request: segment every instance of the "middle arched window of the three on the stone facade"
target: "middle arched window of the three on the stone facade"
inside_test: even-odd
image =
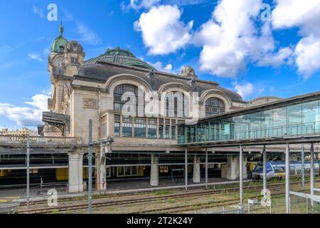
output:
[[[186,117],[188,115],[188,98],[181,92],[169,92],[166,95],[166,116]]]

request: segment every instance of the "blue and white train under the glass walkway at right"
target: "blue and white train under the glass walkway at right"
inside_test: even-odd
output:
[[[320,175],[320,161],[314,162],[314,175]],[[304,173],[310,174],[310,162],[304,162]],[[285,162],[267,162],[267,180],[282,179],[285,177]],[[290,175],[302,174],[302,162],[290,162]],[[263,164],[259,163],[252,171],[252,177],[256,180],[263,179]]]

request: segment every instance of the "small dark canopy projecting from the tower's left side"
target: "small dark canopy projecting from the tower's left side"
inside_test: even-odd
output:
[[[67,129],[70,131],[70,115],[53,112],[43,112],[42,121],[44,123],[48,123],[48,125],[53,125],[59,128],[62,133],[65,132],[65,127],[67,127]]]

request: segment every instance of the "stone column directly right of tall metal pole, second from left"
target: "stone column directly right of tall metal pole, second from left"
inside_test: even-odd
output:
[[[107,190],[107,177],[106,177],[106,165],[105,156],[103,155],[103,146],[100,147],[100,153],[96,155],[96,187],[97,190]]]

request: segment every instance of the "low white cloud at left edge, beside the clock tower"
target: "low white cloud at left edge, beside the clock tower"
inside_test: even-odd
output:
[[[36,126],[41,124],[42,112],[47,110],[48,95],[34,95],[29,107],[19,107],[9,103],[0,103],[0,116],[13,120],[19,126]]]

